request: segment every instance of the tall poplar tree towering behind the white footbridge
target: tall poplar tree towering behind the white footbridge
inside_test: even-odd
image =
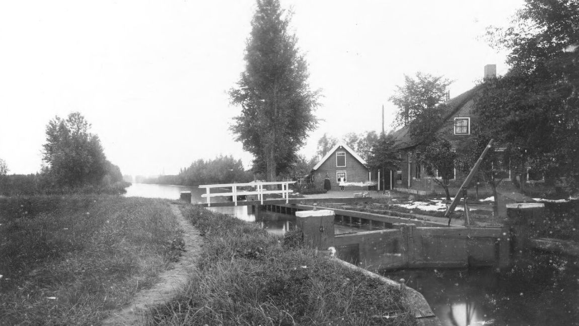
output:
[[[245,71],[229,92],[232,104],[241,106],[230,130],[254,155],[254,171],[269,181],[290,169],[307,132],[317,126],[320,93],[310,90],[306,60],[288,32],[290,17],[278,0],[257,0]]]

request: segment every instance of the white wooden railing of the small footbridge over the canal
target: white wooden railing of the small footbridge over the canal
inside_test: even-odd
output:
[[[237,196],[257,195],[258,200],[263,204],[263,195],[266,193],[279,193],[285,199],[285,203],[289,202],[290,193],[294,192],[290,189],[290,184],[295,184],[296,181],[278,181],[278,182],[248,182],[247,184],[221,184],[221,185],[200,185],[199,188],[206,188],[206,193],[201,197],[207,198],[207,207],[211,207],[211,197],[232,196],[233,203],[237,206]],[[263,186],[267,185],[281,185],[281,190],[264,190]],[[254,191],[247,191],[245,189],[237,189],[238,187],[252,186]],[[231,188],[231,192],[217,192],[211,193],[211,188]]]

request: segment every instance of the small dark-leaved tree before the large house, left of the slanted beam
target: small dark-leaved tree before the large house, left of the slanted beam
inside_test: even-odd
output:
[[[440,185],[446,193],[446,199],[450,200],[448,187],[450,179],[455,177],[455,163],[457,154],[452,149],[448,140],[436,140],[426,146],[420,154],[420,160],[435,175],[433,180]]]

